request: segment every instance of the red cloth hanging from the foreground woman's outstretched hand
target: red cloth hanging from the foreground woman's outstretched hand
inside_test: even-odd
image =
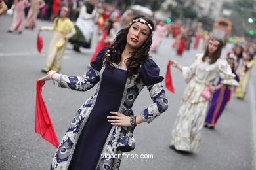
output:
[[[40,135],[42,135],[43,139],[58,148],[58,145],[60,143],[54,131],[54,127],[48,114],[45,101],[43,101],[42,87],[44,84],[45,81],[37,81],[37,93],[35,103],[35,133],[39,133]]]

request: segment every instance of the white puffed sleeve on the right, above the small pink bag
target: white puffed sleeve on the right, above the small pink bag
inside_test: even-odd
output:
[[[225,59],[218,59],[218,73],[221,78],[221,84],[227,84],[230,86],[238,86],[234,73],[232,73],[230,65]]]

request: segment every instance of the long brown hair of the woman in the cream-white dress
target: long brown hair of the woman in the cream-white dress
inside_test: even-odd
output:
[[[215,38],[214,38],[215,39]],[[218,41],[220,44],[217,48],[217,50],[214,52],[214,54],[212,54],[211,56],[209,55],[209,49],[208,46],[203,54],[203,58],[202,61],[205,61],[205,58],[210,57],[211,61],[209,61],[210,64],[215,63],[219,58],[221,58],[221,50],[223,48],[223,41],[221,39],[215,39],[216,41]],[[211,41],[211,39],[209,40]]]

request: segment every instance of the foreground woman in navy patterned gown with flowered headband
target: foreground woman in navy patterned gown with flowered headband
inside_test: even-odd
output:
[[[119,169],[121,154],[135,148],[135,126],[150,123],[167,110],[168,101],[161,84],[163,77],[148,54],[153,33],[153,22],[136,16],[129,27],[117,33],[110,48],[99,52],[84,76],[49,71],[39,79],[54,80],[62,88],[79,91],[98,84],[96,93],[75,114],[54,155],[51,169]],[[144,86],[153,102],[133,116],[131,108]]]

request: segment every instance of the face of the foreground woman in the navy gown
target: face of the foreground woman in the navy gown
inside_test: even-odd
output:
[[[131,25],[126,37],[127,45],[132,48],[140,48],[150,35],[150,29],[147,25],[135,22]]]

